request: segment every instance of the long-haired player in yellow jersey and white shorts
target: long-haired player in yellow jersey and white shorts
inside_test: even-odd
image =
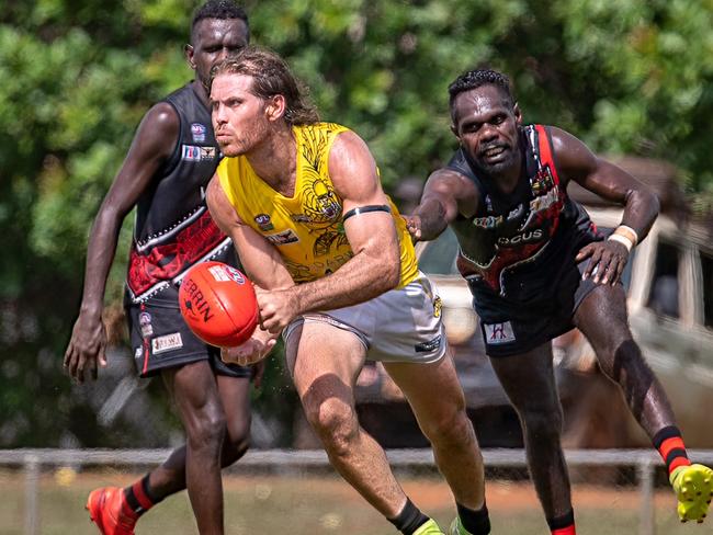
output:
[[[487,534],[482,456],[435,289],[418,272],[366,144],[319,123],[297,88],[285,62],[262,49],[213,70],[213,125],[226,158],[207,203],[258,286],[264,328],[226,358],[260,358],[282,333],[305,413],[335,468],[401,533],[441,534],[356,420],[354,382],[366,358],[382,361],[453,491],[457,533]]]

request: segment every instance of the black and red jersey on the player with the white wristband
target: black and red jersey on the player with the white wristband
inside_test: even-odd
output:
[[[459,216],[452,228],[461,248],[459,270],[476,297],[532,303],[554,284],[548,273],[564,257],[601,237],[561,183],[548,128],[525,126],[519,141],[522,173],[510,194],[478,173],[463,149],[453,156],[448,167],[473,181],[482,202],[474,217]]]

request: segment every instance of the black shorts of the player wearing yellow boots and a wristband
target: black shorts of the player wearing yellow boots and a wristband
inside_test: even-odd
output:
[[[480,332],[488,356],[522,354],[574,329],[573,317],[585,297],[598,285],[581,280],[589,260],[568,266],[550,280],[546,299],[528,305],[501,300],[475,309],[480,318]]]

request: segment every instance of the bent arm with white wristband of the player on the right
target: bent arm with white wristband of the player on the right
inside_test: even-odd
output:
[[[571,134],[551,128],[557,169],[566,180],[574,180],[592,193],[622,204],[624,214],[621,225],[603,242],[582,248],[577,262],[590,259],[585,278],[592,276],[596,283],[616,283],[633,247],[643,240],[658,216],[659,202],[644,184],[618,166],[597,157]],[[566,187],[566,182],[563,183]]]

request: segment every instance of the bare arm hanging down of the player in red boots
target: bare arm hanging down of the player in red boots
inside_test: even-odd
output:
[[[84,288],[64,365],[70,377],[83,383],[97,378],[98,364],[106,365],[106,332],[102,309],[106,278],[116,253],[118,231],[151,178],[170,157],[178,141],[179,117],[168,103],[144,116],[132,146],[92,225],[87,249]]]

